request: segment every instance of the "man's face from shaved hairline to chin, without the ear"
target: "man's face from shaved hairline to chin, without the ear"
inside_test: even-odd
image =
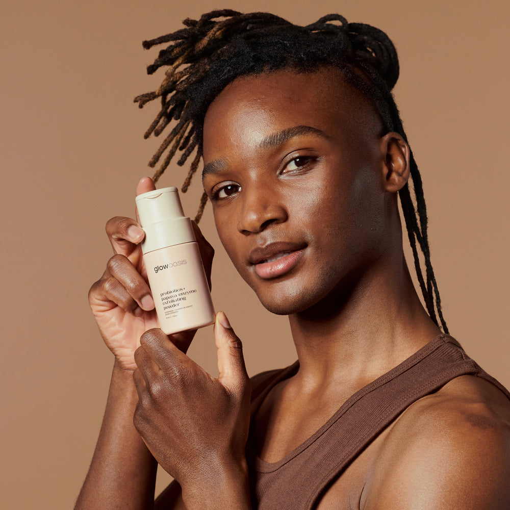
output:
[[[338,299],[386,251],[382,123],[340,71],[242,77],[207,111],[203,185],[219,237],[264,306]]]

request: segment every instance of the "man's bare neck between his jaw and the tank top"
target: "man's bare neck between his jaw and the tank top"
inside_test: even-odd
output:
[[[374,380],[441,333],[423,309],[403,256],[381,261],[348,293],[289,320],[297,379],[310,390]]]

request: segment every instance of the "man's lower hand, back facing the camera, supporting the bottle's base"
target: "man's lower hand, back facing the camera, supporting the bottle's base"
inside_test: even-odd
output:
[[[135,353],[139,403],[134,424],[183,497],[220,483],[246,491],[245,446],[250,383],[241,341],[223,312],[214,325],[218,378],[175,347],[160,329],[147,331]],[[232,500],[231,500],[232,501]]]

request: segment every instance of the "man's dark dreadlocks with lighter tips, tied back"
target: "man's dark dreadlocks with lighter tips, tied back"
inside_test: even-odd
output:
[[[348,23],[339,14],[328,14],[300,27],[273,14],[243,14],[230,9],[208,12],[198,20],[187,18],[183,24],[185,28],[181,30],[143,41],[145,49],[169,43],[147,67],[148,74],[167,67],[160,87],[134,99],[140,108],[154,99],[161,100],[161,109],[144,137],[159,136],[172,120],[176,121],[149,161],[149,166],[155,167],[166,152],[152,178],[155,182],[177,150],[181,152],[177,161],[180,166],[195,151],[182,186],[186,192],[202,156],[203,119],[214,98],[240,76],[278,69],[292,68],[298,72],[314,72],[323,66],[340,69],[350,84],[373,101],[387,132],[397,132],[407,142],[391,92],[399,75],[397,52],[381,30],[364,23]],[[410,179],[399,196],[427,312],[448,333],[430,262],[422,180],[412,151]],[[200,219],[206,202],[204,193],[195,221]],[[424,272],[418,246],[423,254]]]

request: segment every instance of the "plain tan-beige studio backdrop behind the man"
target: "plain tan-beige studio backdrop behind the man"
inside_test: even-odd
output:
[[[508,3],[302,4],[223,6],[303,24],[340,12],[388,32],[400,56],[395,93],[424,179],[445,317],[479,364],[510,386]],[[136,182],[156,147],[142,139],[155,109],[132,103],[161,80],[145,75],[156,52],[144,52],[141,41],[214,7],[204,0],[2,3],[2,507],[69,508],[78,494],[112,366],[87,291],[110,256],[104,224],[133,213]],[[182,171],[173,175],[161,185],[180,185]],[[199,191],[197,181],[189,214]],[[202,227],[217,248],[215,304],[244,340],[250,374],[290,363],[286,319],[262,310],[240,282],[209,207]],[[207,328],[191,350],[212,371],[213,345]]]

